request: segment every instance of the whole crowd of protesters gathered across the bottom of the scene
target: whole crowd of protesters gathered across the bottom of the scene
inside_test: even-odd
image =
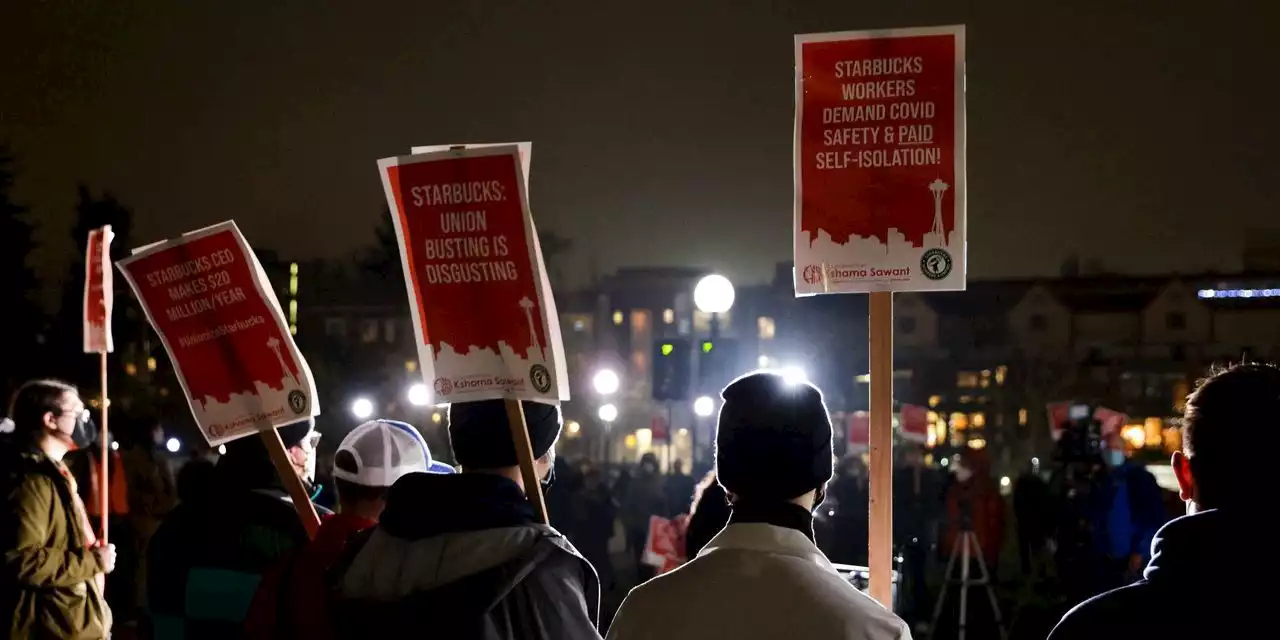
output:
[[[33,380],[14,394],[0,434],[0,609],[20,639],[905,640],[933,622],[940,594],[959,588],[929,567],[972,538],[973,562],[992,581],[1016,567],[1041,586],[1052,576],[1052,589],[1079,603],[1053,640],[1265,628],[1265,590],[1233,589],[1274,564],[1243,554],[1245,567],[1240,553],[1261,530],[1265,471],[1234,449],[1238,433],[1280,410],[1275,366],[1216,371],[1187,399],[1172,460],[1187,515],[1167,524],[1151,474],[1115,442],[1092,457],[1065,452],[1051,474],[1028,468],[1011,508],[984,451],[964,451],[942,472],[902,448],[897,614],[837,570],[865,563],[868,474],[856,456],[833,454],[822,393],[759,371],[722,398],[714,468],[694,474],[676,462],[663,474],[652,454],[635,468],[558,460],[558,407],[524,402],[536,476],[543,489],[554,481],[550,525],[526,499],[503,401],[449,407],[457,466],[434,457],[412,425],[372,420],[323,470],[337,502],[316,504],[312,538],[261,439],[233,440],[216,461],[197,456],[175,477],[164,431],[148,421],[123,451],[111,448],[102,483],[77,389]],[[278,431],[293,472],[325,502],[314,422]],[[100,541],[104,503],[110,544]],[[650,517],[682,515],[687,561],[655,575]],[[1006,543],[1016,564],[1001,562]],[[1176,603],[1185,609],[1169,611]],[[954,607],[942,617],[954,620]],[[997,637],[1001,623],[970,616],[969,634]]]

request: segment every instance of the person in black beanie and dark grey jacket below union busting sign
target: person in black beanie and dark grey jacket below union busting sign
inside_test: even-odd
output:
[[[559,407],[522,407],[545,481]],[[402,477],[333,568],[339,637],[599,639],[599,580],[526,499],[504,401],[452,404],[449,439],[462,474]]]

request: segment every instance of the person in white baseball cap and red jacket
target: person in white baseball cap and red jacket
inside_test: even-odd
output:
[[[338,445],[333,467],[338,512],[321,522],[316,539],[276,576],[264,577],[246,622],[250,637],[334,637],[325,607],[325,572],[353,536],[378,524],[387,492],[397,480],[454,472],[431,460],[417,429],[396,420],[371,420],[353,429]]]

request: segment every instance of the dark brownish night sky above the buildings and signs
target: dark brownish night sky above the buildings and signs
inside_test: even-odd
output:
[[[46,270],[78,180],[134,209],[136,243],[234,218],[257,246],[337,256],[372,241],[376,159],[531,140],[571,282],[762,282],[791,251],[791,36],[947,23],[969,29],[970,275],[1071,252],[1236,269],[1247,230],[1280,230],[1265,0],[123,4],[0,4],[0,141]]]

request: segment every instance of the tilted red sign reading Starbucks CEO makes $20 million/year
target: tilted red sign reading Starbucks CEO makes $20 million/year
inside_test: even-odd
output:
[[[116,265],[210,445],[319,413],[311,370],[236,223],[136,250]]]

